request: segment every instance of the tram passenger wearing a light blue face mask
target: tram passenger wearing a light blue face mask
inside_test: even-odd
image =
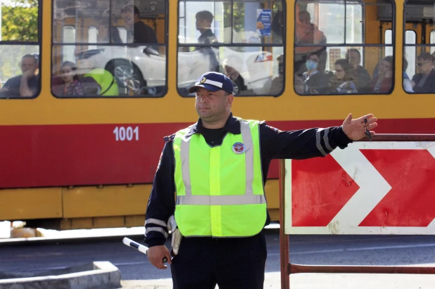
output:
[[[310,53],[305,61],[308,71],[303,72],[303,94],[324,94],[328,88],[329,77],[324,71],[317,70],[319,56],[317,53]]]

